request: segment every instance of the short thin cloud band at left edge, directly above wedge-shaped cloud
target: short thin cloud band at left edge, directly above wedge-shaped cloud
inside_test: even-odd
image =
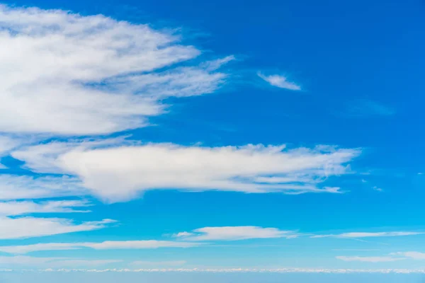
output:
[[[52,200],[45,202],[0,202],[0,216],[16,216],[22,214],[51,212],[89,212],[88,210],[73,209],[73,207],[87,207],[89,205],[89,202],[86,202],[84,200]]]

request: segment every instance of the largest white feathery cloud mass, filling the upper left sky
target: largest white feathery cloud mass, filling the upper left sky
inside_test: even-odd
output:
[[[148,25],[0,6],[0,132],[105,134],[147,125],[162,98],[211,93],[221,61]],[[165,71],[156,71],[161,68]]]

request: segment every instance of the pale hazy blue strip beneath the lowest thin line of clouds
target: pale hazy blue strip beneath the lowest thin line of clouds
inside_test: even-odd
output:
[[[6,274],[0,279],[2,283],[21,283],[21,282],[45,282],[45,283],[72,283],[72,282],[186,282],[186,283],[356,283],[356,282],[385,282],[385,283],[422,283],[424,275],[394,275],[394,274],[346,274],[346,275],[329,275],[329,274],[209,274],[209,273],[122,273],[122,272],[106,272],[106,273],[26,273],[26,274]],[[33,280],[33,281],[31,281]]]

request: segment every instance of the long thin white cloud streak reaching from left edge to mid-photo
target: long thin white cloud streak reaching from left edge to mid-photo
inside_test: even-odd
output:
[[[103,241],[100,243],[37,243],[26,246],[0,246],[0,252],[12,254],[31,253],[40,250],[77,250],[93,248],[95,250],[156,249],[156,248],[192,248],[200,243],[177,241]]]

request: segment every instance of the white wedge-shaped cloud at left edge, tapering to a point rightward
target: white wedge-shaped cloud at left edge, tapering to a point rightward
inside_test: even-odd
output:
[[[69,219],[0,216],[0,240],[92,231],[102,229],[113,222],[115,221],[104,219],[103,221],[86,221],[81,224],[74,224]]]

